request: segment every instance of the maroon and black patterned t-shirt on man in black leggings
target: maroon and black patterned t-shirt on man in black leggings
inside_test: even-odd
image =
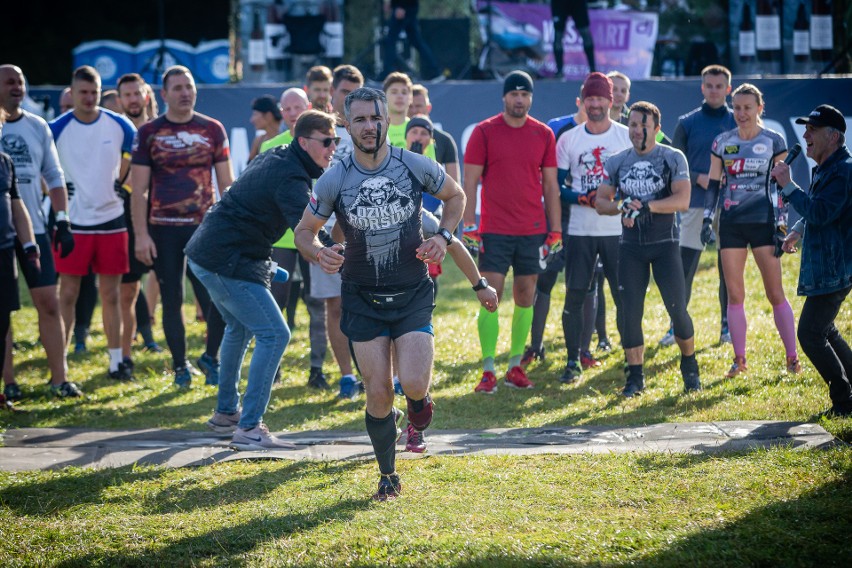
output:
[[[133,164],[151,168],[148,222],[198,225],[213,205],[213,166],[230,157],[228,136],[218,120],[194,113],[185,123],[166,115],[144,124]]]

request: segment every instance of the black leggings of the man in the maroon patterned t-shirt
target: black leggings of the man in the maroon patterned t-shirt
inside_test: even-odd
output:
[[[183,279],[189,277],[192,290],[201,305],[201,311],[207,320],[206,353],[217,358],[222,336],[225,334],[225,322],[219,310],[210,301],[207,289],[186,265],[183,249],[195,232],[196,226],[166,227],[149,225],[148,231],[157,247],[154,270],[160,283],[160,298],[163,302],[163,333],[172,353],[175,368],[186,365],[186,328],[183,325]]]

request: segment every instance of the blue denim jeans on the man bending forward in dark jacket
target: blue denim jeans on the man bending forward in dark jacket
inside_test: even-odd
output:
[[[240,369],[251,338],[256,338],[239,423],[240,428],[254,428],[269,404],[275,370],[290,342],[290,328],[266,286],[210,272],[191,260],[189,264],[225,320],[217,412],[233,414],[239,409]]]

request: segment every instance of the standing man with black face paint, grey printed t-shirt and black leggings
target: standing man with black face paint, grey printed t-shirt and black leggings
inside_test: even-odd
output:
[[[607,160],[606,180],[598,186],[595,203],[601,215],[617,219],[621,214],[624,226],[618,252],[618,295],[624,310],[621,342],[628,373],[622,394],[632,397],[645,390],[642,314],[651,269],[680,347],[684,390],[701,390],[675,219],[677,212],[689,207],[689,167],[680,150],[657,144],[660,110],[656,106],[647,102],[634,104],[628,125],[633,147]]]

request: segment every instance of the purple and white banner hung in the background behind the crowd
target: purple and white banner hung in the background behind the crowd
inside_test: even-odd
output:
[[[477,7],[483,41],[488,37],[490,19],[492,45],[501,52],[504,60],[523,62],[541,77],[552,77],[556,73],[549,3],[513,4],[478,0]],[[589,20],[598,71],[621,71],[631,79],[651,76],[659,30],[656,13],[589,10]],[[565,28],[563,73],[568,79],[582,79],[589,72],[583,40],[572,18],[568,19]]]

